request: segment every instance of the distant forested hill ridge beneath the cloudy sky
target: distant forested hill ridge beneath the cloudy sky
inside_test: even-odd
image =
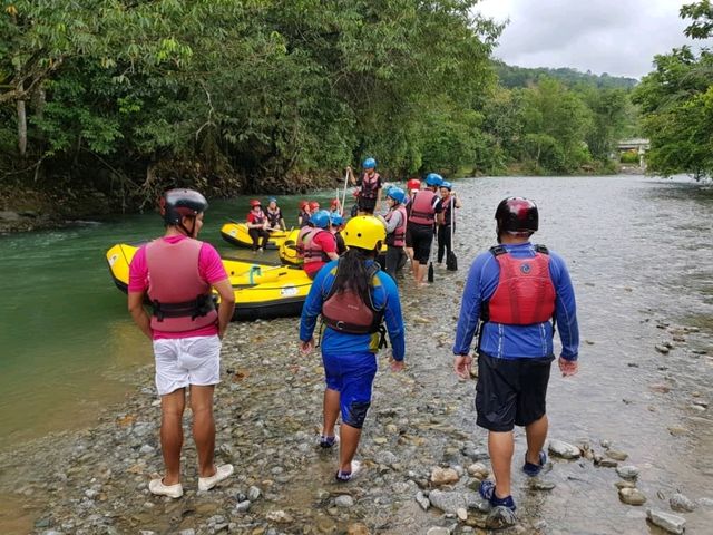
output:
[[[515,87],[527,87],[535,84],[541,76],[555,78],[568,87],[584,84],[603,89],[632,89],[638,84],[638,80],[634,78],[609,76],[606,72],[603,75],[594,75],[590,71],[579,72],[577,69],[570,69],[568,67],[561,67],[558,69],[549,69],[546,67],[528,69],[525,67],[506,65],[501,61],[496,61],[495,67],[498,72],[498,77],[500,78],[500,84],[509,89]]]

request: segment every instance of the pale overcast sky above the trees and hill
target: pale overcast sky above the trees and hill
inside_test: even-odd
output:
[[[495,57],[519,67],[572,67],[641,79],[657,54],[690,43],[681,6],[694,0],[481,0],[475,11],[510,19]],[[710,42],[707,43],[711,45]]]

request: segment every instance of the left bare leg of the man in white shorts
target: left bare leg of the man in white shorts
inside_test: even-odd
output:
[[[164,485],[180,483],[180,448],[183,448],[183,411],[185,407],[185,388],[160,397],[160,451],[166,466]]]

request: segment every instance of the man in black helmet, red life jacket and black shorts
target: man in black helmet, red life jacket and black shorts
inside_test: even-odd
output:
[[[547,463],[543,448],[555,325],[563,346],[558,363],[565,377],[578,369],[579,330],[564,260],[529,241],[538,228],[535,203],[505,198],[496,220],[499,245],[476,259],[463,289],[453,367],[459,377],[470,376],[470,347],[478,333],[477,425],[488,429],[495,476],[495,481],[482,481],[479,492],[491,505],[515,510],[510,494],[512,429],[525,427],[522,470],[535,477]]]

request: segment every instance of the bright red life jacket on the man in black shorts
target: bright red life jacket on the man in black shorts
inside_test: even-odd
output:
[[[556,292],[549,274],[549,252],[535,245],[535,256],[516,259],[505,246],[490,249],[500,278],[492,296],[484,302],[482,321],[531,325],[549,321],[555,313]]]

